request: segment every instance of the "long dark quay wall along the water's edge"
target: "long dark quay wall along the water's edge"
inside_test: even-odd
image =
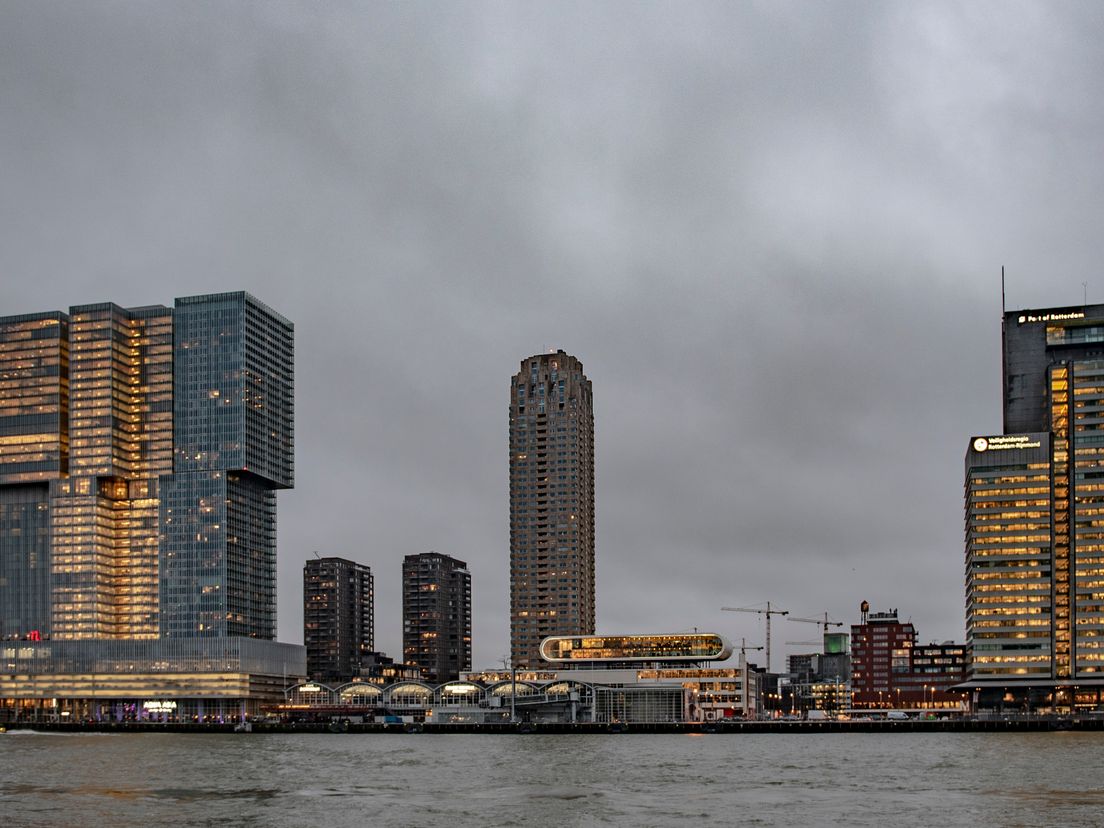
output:
[[[543,734],[741,734],[741,733],[1028,733],[1048,731],[1104,731],[1104,718],[1017,718],[1017,719],[944,719],[907,721],[739,721],[739,722],[518,722],[493,724],[380,724],[349,722],[255,722],[250,732],[233,724],[177,722],[8,722],[8,730],[71,733],[234,733],[250,736],[266,733],[331,733],[331,734],[433,734],[497,733]]]

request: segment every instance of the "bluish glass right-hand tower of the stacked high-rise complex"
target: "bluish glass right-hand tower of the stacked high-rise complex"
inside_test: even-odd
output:
[[[276,489],[290,488],[293,328],[245,294],[177,300],[161,634],[276,636]]]

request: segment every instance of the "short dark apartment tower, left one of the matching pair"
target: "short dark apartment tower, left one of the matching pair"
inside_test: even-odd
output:
[[[340,684],[359,676],[375,652],[372,570],[343,558],[302,567],[302,643],[312,681]]]

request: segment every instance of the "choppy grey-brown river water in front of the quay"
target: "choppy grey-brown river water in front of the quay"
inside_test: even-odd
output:
[[[6,826],[1094,826],[1104,734],[0,736]]]

